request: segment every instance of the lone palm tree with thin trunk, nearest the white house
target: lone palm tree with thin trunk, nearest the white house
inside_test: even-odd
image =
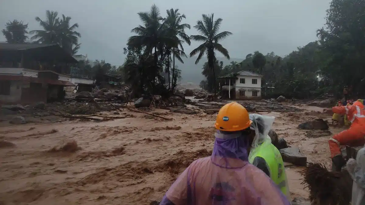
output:
[[[190,57],[193,57],[197,53],[199,53],[195,64],[197,64],[200,59],[206,54],[208,58],[208,66],[209,69],[213,71],[213,77],[215,82],[215,71],[214,71],[214,62],[216,61],[215,51],[219,51],[222,53],[224,57],[230,59],[228,50],[225,49],[220,43],[220,40],[225,39],[227,36],[232,35],[231,32],[223,31],[218,33],[220,24],[222,24],[223,19],[218,18],[214,20],[214,13],[212,15],[202,15],[203,20],[198,20],[196,23],[196,30],[198,30],[200,35],[191,35],[190,39],[203,42],[196,49],[191,51]],[[216,83],[214,83],[214,98],[216,95]]]

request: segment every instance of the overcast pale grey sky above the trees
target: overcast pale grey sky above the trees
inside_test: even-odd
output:
[[[0,0],[0,28],[8,20],[18,19],[29,23],[29,30],[39,29],[35,16],[44,20],[47,9],[55,10],[80,25],[78,54],[122,65],[123,47],[133,35],[130,30],[141,23],[137,12],[149,11],[153,3],[163,16],[166,9],[179,8],[191,26],[202,13],[223,18],[221,31],[233,35],[221,43],[231,58],[245,58],[256,50],[283,56],[316,40],[316,29],[325,22],[330,0]],[[196,30],[187,33],[196,34]],[[0,41],[4,40],[1,35]],[[186,53],[196,46],[185,46]]]

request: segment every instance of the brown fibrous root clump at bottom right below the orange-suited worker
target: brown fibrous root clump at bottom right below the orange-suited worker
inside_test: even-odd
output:
[[[331,172],[324,165],[309,163],[303,184],[310,190],[312,204],[348,205],[351,201],[352,179],[346,169]]]

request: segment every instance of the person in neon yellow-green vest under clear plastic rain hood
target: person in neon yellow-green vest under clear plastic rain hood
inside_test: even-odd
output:
[[[271,143],[268,133],[275,117],[250,114],[250,128],[255,131],[251,144],[249,162],[261,169],[280,188],[287,199],[290,199],[287,176],[280,151]]]

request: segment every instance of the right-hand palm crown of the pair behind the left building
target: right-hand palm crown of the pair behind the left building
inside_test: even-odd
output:
[[[64,48],[68,53],[72,54],[73,49],[72,46],[75,46],[76,49],[80,49],[80,44],[78,44],[78,38],[81,37],[81,34],[77,31],[74,31],[78,28],[78,24],[75,23],[70,26],[71,17],[65,16],[62,14],[62,19],[59,20],[59,38],[61,40],[61,47]]]

